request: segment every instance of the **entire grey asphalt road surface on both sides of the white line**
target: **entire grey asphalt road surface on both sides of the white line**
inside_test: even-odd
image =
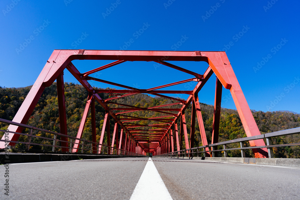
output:
[[[300,199],[299,167],[148,159],[9,164],[9,196],[7,166],[1,165],[0,199],[130,199],[147,162],[154,163],[173,199]]]

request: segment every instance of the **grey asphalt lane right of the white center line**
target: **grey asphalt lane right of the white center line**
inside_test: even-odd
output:
[[[299,167],[152,160],[173,199],[300,199]]]

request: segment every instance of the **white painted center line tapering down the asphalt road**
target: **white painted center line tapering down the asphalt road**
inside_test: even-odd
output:
[[[130,199],[172,199],[151,158],[149,158]]]

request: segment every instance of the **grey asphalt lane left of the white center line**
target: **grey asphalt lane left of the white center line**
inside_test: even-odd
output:
[[[122,158],[10,164],[9,199],[130,199],[147,160]],[[4,167],[0,167],[2,176]],[[5,198],[2,191],[0,199]]]

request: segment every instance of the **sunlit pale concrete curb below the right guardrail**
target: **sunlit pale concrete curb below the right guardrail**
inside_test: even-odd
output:
[[[295,159],[295,158],[230,158],[230,157],[225,158],[225,157],[167,157],[167,156],[157,156],[157,157],[300,167],[300,159]]]

